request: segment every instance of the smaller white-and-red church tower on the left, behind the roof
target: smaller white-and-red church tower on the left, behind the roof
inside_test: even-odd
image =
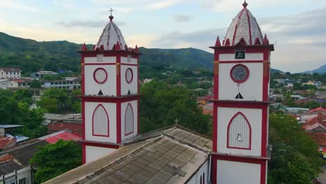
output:
[[[80,51],[83,163],[139,132],[139,52],[127,47],[113,19],[110,15],[92,50],[84,44]]]

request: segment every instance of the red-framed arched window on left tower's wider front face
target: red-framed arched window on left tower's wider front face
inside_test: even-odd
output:
[[[101,104],[93,112],[93,135],[109,137],[109,115]]]

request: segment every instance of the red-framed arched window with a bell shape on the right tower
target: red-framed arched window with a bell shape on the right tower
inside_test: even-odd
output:
[[[235,114],[228,123],[227,147],[251,149],[251,126],[241,112]]]

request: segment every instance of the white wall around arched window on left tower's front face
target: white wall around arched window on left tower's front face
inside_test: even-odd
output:
[[[98,107],[99,102],[85,102],[85,139],[88,141],[102,141],[116,143],[116,104],[101,103],[107,110],[109,116],[109,137],[93,136],[92,121],[93,112]]]

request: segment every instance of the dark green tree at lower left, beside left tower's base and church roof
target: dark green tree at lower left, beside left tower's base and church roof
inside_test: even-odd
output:
[[[38,147],[29,161],[36,164],[35,183],[42,183],[81,165],[81,147],[74,141],[59,140],[56,144]]]

